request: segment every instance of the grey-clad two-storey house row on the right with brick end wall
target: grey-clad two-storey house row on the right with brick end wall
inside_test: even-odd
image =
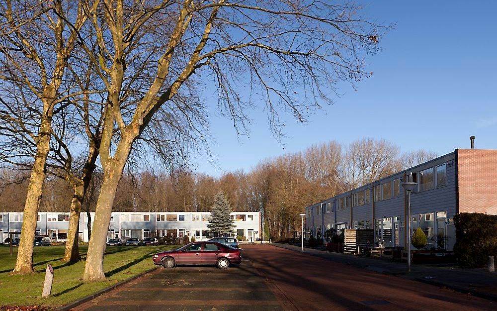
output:
[[[402,182],[417,183],[411,195]],[[456,149],[431,161],[305,208],[306,229],[325,239],[334,228],[372,229],[374,246],[407,247],[406,223],[421,228],[428,248],[452,250],[454,215],[497,214],[497,150]]]

